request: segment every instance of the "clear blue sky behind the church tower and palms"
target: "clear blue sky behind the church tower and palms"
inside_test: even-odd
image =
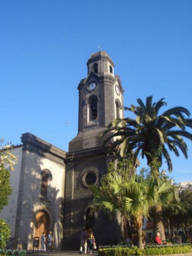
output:
[[[30,132],[68,151],[77,86],[98,45],[115,62],[125,106],[153,95],[192,113],[191,13],[191,0],[1,1],[0,137],[20,144]],[[173,156],[176,182],[192,180],[187,143],[187,160]]]

